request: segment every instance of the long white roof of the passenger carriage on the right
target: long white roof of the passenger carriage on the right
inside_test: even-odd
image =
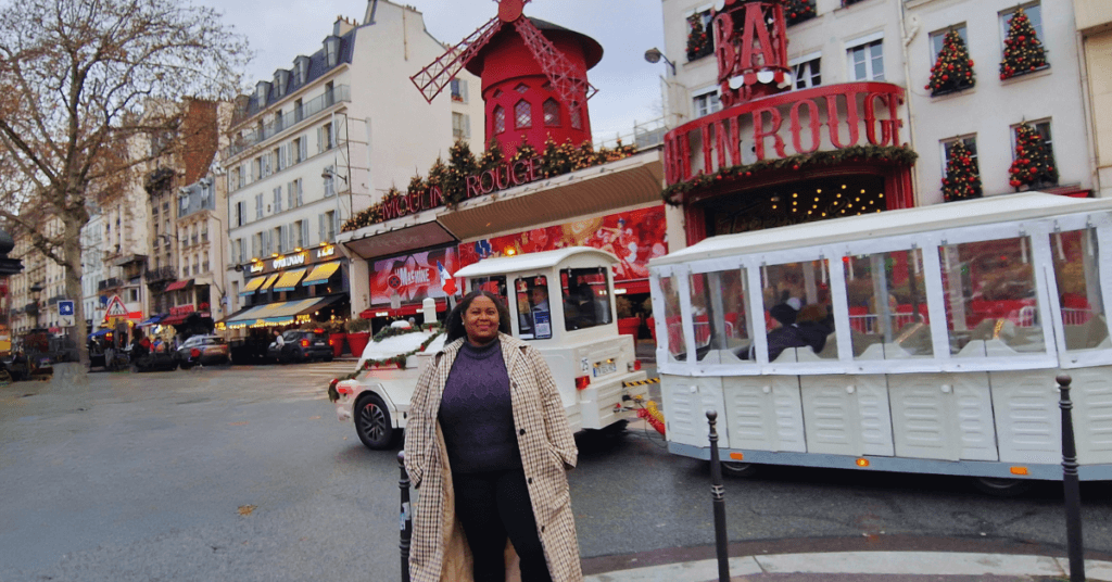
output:
[[[1112,210],[1112,199],[1081,199],[1044,193],[992,196],[715,236],[655,258],[649,266],[1094,210]]]

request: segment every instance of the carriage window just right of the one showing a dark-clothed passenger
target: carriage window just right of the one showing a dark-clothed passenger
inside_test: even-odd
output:
[[[922,250],[846,257],[845,294],[855,358],[934,355]]]

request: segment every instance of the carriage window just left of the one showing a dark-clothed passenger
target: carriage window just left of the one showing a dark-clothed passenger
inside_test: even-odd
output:
[[[753,328],[746,314],[745,270],[698,273],[691,276],[695,346],[701,362],[708,358],[752,359]],[[733,354],[736,358],[726,357]],[[722,357],[718,357],[721,355]]]

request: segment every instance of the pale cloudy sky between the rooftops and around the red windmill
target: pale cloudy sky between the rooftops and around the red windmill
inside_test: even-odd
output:
[[[269,80],[275,69],[290,68],[294,57],[311,55],[331,33],[337,16],[360,23],[365,0],[198,0],[222,12],[255,51],[247,83]],[[441,42],[455,45],[497,14],[494,0],[399,0],[425,16],[425,27]],[[583,32],[603,46],[603,60],[588,73],[598,93],[590,102],[595,139],[631,134],[634,121],[662,116],[659,76],[666,65],[645,61],[645,50],[663,49],[661,0],[536,0],[525,13]],[[414,73],[426,63],[415,63]],[[406,87],[415,100],[420,93]]]

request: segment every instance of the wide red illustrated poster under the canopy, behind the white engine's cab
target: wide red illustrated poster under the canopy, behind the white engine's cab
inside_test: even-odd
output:
[[[668,253],[664,206],[535,228],[459,245],[459,267],[488,257],[586,246],[618,257],[614,280],[648,278],[648,260]]]

